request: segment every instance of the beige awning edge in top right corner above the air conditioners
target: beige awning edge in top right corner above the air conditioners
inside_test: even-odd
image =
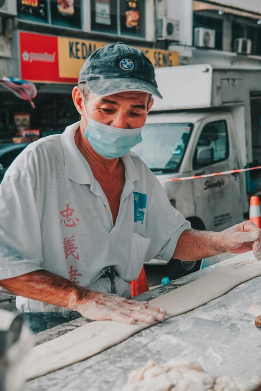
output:
[[[194,11],[219,11],[220,9],[223,10],[224,13],[230,13],[237,16],[242,17],[249,17],[252,19],[260,19],[261,18],[261,12],[251,12],[247,11],[243,8],[235,8],[235,7],[229,7],[225,6],[224,4],[218,3],[216,1],[204,2],[204,1],[193,1],[193,10]]]

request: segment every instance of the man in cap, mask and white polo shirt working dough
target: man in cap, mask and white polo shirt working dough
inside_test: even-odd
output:
[[[29,145],[7,170],[0,286],[17,295],[19,311],[152,323],[164,319],[163,309],[128,300],[128,281],[144,261],[251,249],[261,259],[260,230],[251,222],[192,230],[129,153],[142,139],[151,94],[161,97],[143,53],[120,42],[103,46],[83,64],[72,92],[80,121]]]

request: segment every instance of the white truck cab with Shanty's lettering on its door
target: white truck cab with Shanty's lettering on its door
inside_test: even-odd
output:
[[[193,228],[219,231],[243,220],[243,173],[171,181],[242,167],[229,111],[151,114],[142,138],[133,151]]]

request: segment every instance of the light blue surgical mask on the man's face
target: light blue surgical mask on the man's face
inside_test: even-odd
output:
[[[83,107],[87,116],[85,105]],[[94,151],[106,159],[122,157],[142,141],[140,134],[142,128],[120,129],[94,121],[88,116],[87,119],[88,124],[85,126],[83,117],[85,127],[83,136],[88,139]]]

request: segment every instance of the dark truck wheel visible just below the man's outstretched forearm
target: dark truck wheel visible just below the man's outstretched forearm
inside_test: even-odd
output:
[[[177,280],[180,277],[187,276],[190,273],[194,273],[200,269],[200,261],[183,262],[179,259],[171,259],[171,261],[164,266],[166,277],[169,280]]]

